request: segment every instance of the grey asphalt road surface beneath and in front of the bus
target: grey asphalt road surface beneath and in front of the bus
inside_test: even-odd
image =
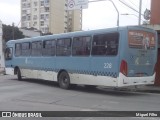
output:
[[[0,111],[160,111],[160,94],[87,89],[84,86],[63,90],[54,82],[30,79],[17,81],[16,76],[7,75],[0,76]],[[105,120],[105,118],[67,117],[63,119]],[[150,119],[159,120],[158,118],[145,120]]]

